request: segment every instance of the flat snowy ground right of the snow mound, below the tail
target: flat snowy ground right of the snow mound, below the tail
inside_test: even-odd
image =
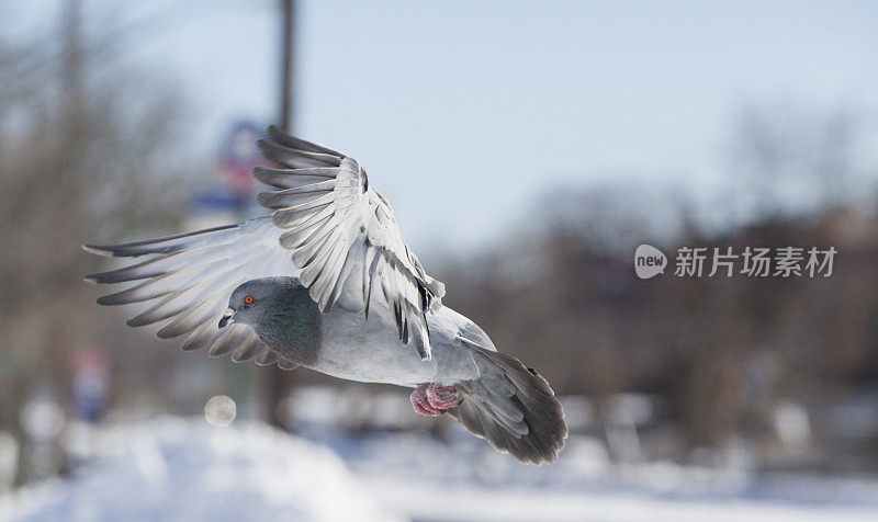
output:
[[[875,479],[618,465],[584,436],[552,466],[518,464],[462,430],[451,444],[412,433],[319,439],[384,506],[418,521],[878,520]]]

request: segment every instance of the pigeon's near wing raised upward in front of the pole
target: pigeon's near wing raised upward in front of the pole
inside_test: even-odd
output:
[[[268,128],[262,154],[277,169],[254,175],[275,190],[259,194],[285,229],[283,248],[302,269],[302,284],[320,310],[336,303],[363,309],[383,299],[399,339],[430,359],[426,314],[441,306],[444,285],[427,275],[403,240],[390,203],[369,183],[365,170],[340,152]]]

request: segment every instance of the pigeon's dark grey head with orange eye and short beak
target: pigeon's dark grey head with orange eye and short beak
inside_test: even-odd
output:
[[[273,316],[273,310],[283,308],[282,304],[296,288],[301,285],[295,277],[262,277],[241,284],[228,298],[228,308],[219,319],[219,328],[229,322],[256,325]]]

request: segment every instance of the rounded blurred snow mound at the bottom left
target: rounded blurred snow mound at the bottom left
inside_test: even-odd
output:
[[[267,425],[161,418],[92,433],[94,462],[0,499],[2,520],[404,520],[330,450]]]

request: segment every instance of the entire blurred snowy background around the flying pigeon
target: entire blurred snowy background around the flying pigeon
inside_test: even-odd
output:
[[[0,518],[878,515],[878,4],[0,0]],[[559,463],[94,304],[82,276],[114,265],[81,243],[259,215],[254,141],[284,121],[360,159],[443,300],[549,379]],[[642,281],[640,243],[838,253],[831,277]]]

